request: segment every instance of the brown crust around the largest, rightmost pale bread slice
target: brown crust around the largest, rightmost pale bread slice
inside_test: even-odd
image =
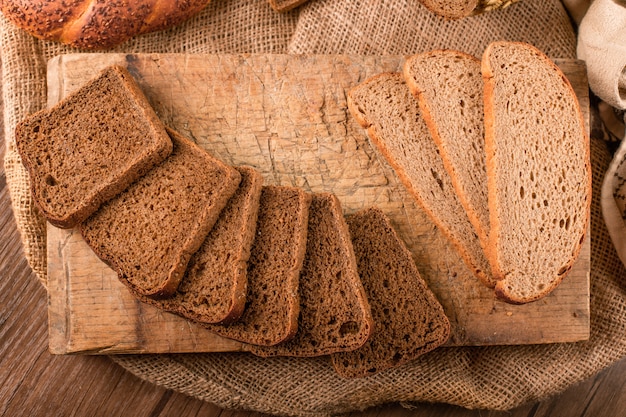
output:
[[[583,127],[582,129],[582,138],[583,138],[583,146],[582,149],[584,151],[584,160],[585,164],[585,174],[587,177],[587,190],[586,190],[586,206],[585,206],[585,219],[584,219],[584,227],[583,233],[580,239],[578,240],[576,247],[573,251],[573,255],[569,262],[565,265],[561,266],[561,270],[563,273],[557,274],[557,276],[550,281],[550,285],[546,285],[542,291],[537,291],[526,297],[516,297],[514,294],[511,294],[507,289],[507,277],[509,276],[509,271],[505,271],[501,267],[500,262],[500,250],[498,247],[498,242],[500,242],[500,234],[502,229],[501,219],[498,217],[498,190],[496,179],[498,175],[498,161],[496,160],[496,138],[495,138],[495,80],[494,80],[494,70],[491,68],[488,57],[491,54],[493,48],[502,46],[502,45],[514,45],[520,46],[524,48],[528,48],[530,51],[533,51],[536,56],[540,57],[542,62],[554,71],[559,77],[562,79],[565,88],[568,91],[568,94],[573,98],[576,108],[576,118],[578,119],[578,123]],[[522,42],[506,42],[499,41],[493,42],[488,45],[483,53],[482,63],[481,63],[481,71],[483,73],[484,80],[484,100],[485,100],[485,152],[486,152],[486,162],[487,162],[487,172],[488,175],[488,192],[489,192],[489,212],[490,212],[490,237],[489,244],[486,249],[486,256],[491,264],[491,269],[498,279],[498,283],[494,289],[496,297],[499,299],[510,303],[510,304],[525,304],[529,302],[533,302],[539,300],[549,293],[551,293],[567,276],[567,274],[571,271],[571,268],[578,258],[580,251],[582,249],[583,243],[586,239],[586,235],[589,229],[590,215],[591,215],[591,193],[592,193],[592,171],[590,164],[590,144],[589,144],[589,136],[587,134],[585,128],[585,122],[582,115],[582,111],[580,108],[580,103],[576,98],[576,93],[567,79],[567,77],[563,74],[561,69],[543,52],[541,52],[536,47]]]

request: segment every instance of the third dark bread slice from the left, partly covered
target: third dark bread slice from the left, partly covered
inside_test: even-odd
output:
[[[248,259],[256,232],[263,177],[236,167],[241,183],[198,251],[191,257],[176,293],[141,300],[199,323],[232,323],[243,313]]]

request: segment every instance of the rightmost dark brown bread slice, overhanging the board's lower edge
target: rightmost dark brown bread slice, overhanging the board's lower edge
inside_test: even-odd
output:
[[[450,322],[380,209],[362,210],[347,222],[375,329],[361,348],[331,358],[339,375],[358,378],[399,366],[442,345],[450,335]]]

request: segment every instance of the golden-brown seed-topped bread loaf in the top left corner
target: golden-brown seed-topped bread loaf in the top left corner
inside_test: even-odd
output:
[[[179,24],[210,0],[2,0],[4,16],[45,40],[82,49],[111,48]]]

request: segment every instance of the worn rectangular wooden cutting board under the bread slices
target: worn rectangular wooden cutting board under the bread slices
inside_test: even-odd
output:
[[[548,297],[497,301],[416,206],[348,113],[346,90],[398,71],[400,56],[76,54],[48,65],[52,105],[111,64],[126,66],[165,124],[266,183],[327,191],[344,212],[377,205],[412,251],[452,323],[449,345],[572,342],[589,337],[590,244]],[[560,60],[588,119],[584,65]],[[588,126],[588,123],[587,123]],[[246,346],[135,300],[76,230],[48,227],[50,350],[239,351]]]

